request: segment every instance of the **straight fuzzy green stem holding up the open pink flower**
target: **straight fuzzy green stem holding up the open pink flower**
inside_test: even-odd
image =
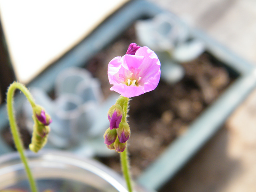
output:
[[[120,104],[124,111],[124,115],[122,116],[122,121],[126,121],[129,98],[121,96],[120,100],[121,100]],[[126,181],[128,191],[132,192],[132,182],[131,182],[131,176],[130,176],[130,163],[129,163],[129,159],[128,159],[127,147],[128,147],[128,144],[126,142],[125,150],[120,153],[120,161],[121,161],[122,172],[124,175],[124,179]]]

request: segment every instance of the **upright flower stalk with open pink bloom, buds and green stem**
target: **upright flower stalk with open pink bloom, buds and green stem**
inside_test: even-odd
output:
[[[104,134],[109,149],[120,153],[120,161],[129,192],[132,192],[127,140],[130,126],[126,120],[129,98],[150,92],[160,80],[160,61],[148,47],[131,43],[126,54],[113,58],[108,64],[108,80],[113,86],[110,90],[121,96],[108,111],[110,128]],[[121,119],[122,118],[122,119]],[[110,130],[113,130],[110,132]]]

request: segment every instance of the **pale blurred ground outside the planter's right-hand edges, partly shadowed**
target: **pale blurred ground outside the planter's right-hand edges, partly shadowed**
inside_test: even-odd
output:
[[[150,0],[256,63],[256,1]],[[165,186],[172,192],[256,191],[256,90]]]

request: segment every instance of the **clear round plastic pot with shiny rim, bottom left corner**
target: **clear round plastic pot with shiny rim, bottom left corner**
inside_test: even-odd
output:
[[[122,177],[95,160],[52,150],[26,155],[40,192],[127,192]],[[4,189],[30,191],[17,152],[0,157],[0,191]],[[135,190],[146,192],[138,186]]]

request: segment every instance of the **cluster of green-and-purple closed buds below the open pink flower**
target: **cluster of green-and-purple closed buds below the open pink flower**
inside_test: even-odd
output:
[[[130,137],[130,126],[126,120],[128,102],[129,98],[120,96],[108,111],[110,127],[104,134],[104,143],[119,153],[125,150],[126,141]]]

